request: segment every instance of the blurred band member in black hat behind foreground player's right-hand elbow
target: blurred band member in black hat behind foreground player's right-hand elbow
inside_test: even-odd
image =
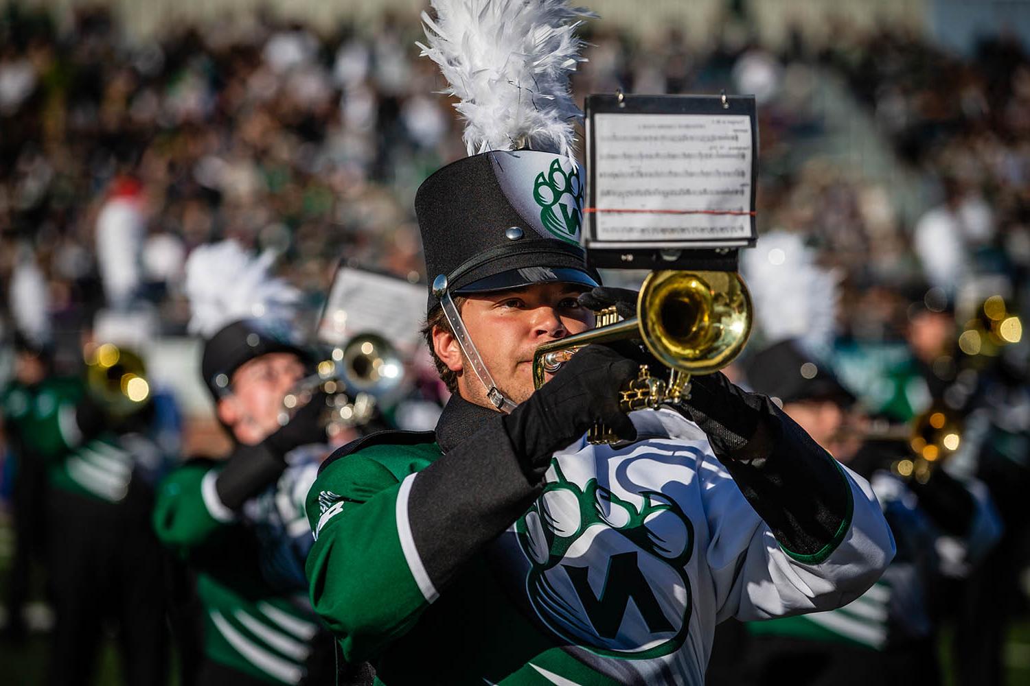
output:
[[[911,449],[907,436],[861,445],[851,440],[846,420],[854,398],[794,341],[754,356],[748,382],[778,398],[809,435],[869,479],[894,532],[897,555],[880,581],[843,608],[748,624],[751,640],[734,683],[780,683],[784,670],[800,664],[802,670],[792,669],[792,683],[939,684],[932,598],[941,574],[936,551],[948,539],[971,566],[989,549],[999,529],[986,492],[966,488],[939,468],[922,480],[892,473],[892,464]]]

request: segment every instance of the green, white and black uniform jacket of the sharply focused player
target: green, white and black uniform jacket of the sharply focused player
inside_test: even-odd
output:
[[[630,417],[638,441],[577,441],[537,483],[456,396],[435,435],[334,456],[307,572],[344,656],[388,686],[700,685],[717,622],[837,607],[893,555],[868,484],[785,417],[729,468],[677,411]]]

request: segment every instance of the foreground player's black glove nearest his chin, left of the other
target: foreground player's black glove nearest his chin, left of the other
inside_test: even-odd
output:
[[[587,346],[554,377],[502,419],[527,473],[545,468],[551,455],[604,423],[625,440],[637,438],[619,408],[619,390],[637,377],[638,364],[607,346]]]

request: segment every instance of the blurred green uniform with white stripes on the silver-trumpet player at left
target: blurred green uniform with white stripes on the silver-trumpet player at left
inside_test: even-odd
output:
[[[197,571],[204,654],[273,684],[305,676],[317,617],[304,589],[311,543],[304,496],[320,450],[294,450],[278,480],[234,512],[214,488],[221,464],[193,460],[161,483],[158,537]]]

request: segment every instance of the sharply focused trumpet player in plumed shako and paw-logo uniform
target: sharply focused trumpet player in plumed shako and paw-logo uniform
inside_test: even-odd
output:
[[[571,25],[544,4],[458,27],[471,5],[437,2],[424,49],[462,74],[460,46],[480,39],[529,50],[513,48],[505,68],[575,65],[553,53],[576,45]],[[629,298],[584,261],[580,170],[545,151],[571,145],[568,89],[533,96],[533,112],[558,110],[546,135],[487,140],[490,98],[515,106],[506,89],[535,81],[487,82],[459,109],[489,110],[467,142],[492,151],[438,171],[415,198],[433,282],[425,336],[453,395],[434,432],[367,436],[323,466],[308,495],[313,606],[344,656],[372,660],[387,686],[701,684],[716,623],[847,603],[891,559],[890,530],[864,479],[722,374],[626,414],[620,389],[642,361],[660,365],[593,345],[535,390],[541,345]],[[597,422],[621,440],[587,443]]]

